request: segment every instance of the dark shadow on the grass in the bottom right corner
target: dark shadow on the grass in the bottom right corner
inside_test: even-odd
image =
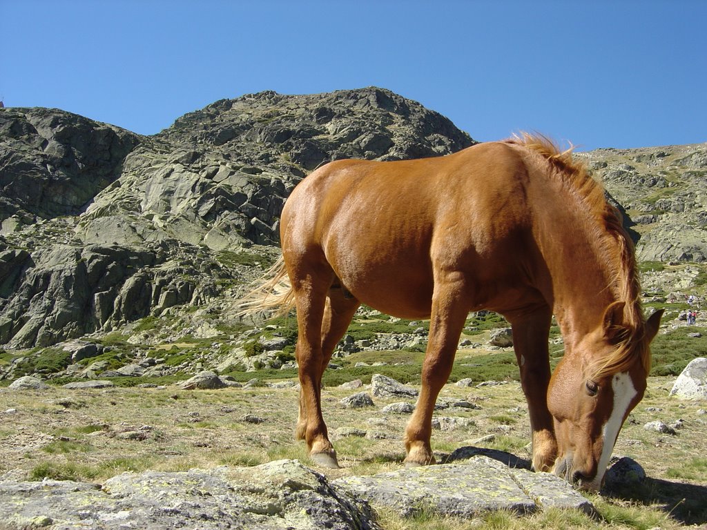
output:
[[[607,498],[658,507],[672,519],[688,525],[707,523],[707,486],[645,478],[640,484],[612,485],[602,489]]]

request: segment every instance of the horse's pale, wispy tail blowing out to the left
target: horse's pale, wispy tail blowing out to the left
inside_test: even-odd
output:
[[[255,287],[238,301],[239,317],[273,311],[273,316],[279,317],[295,307],[295,293],[282,256],[254,283]]]

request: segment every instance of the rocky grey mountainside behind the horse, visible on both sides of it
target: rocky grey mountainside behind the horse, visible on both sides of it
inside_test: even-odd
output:
[[[380,88],[244,95],[154,136],[0,109],[0,344],[49,346],[182,310],[172,338],[208,337],[215,324],[199,315],[228,314],[274,259],[281,208],[309,172],[473,143]],[[580,156],[625,211],[641,259],[707,260],[706,144]]]

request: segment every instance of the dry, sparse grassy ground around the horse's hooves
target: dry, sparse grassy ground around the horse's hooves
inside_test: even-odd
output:
[[[600,514],[596,519],[550,510],[520,519],[501,513],[463,522],[434,514],[400,519],[382,511],[382,524],[386,529],[652,529],[707,524],[707,459],[703,456],[707,454],[707,415],[701,410],[704,404],[668,397],[673,380],[650,378],[648,393],[624,426],[614,452],[640,462],[648,480],[634,490],[590,495]],[[380,411],[399,400],[375,399],[375,408],[343,408],[339,401],[356,391],[327,387],[322,394],[342,466],[327,471],[330,478],[402,466],[400,440],[407,416]],[[438,411],[438,416],[472,420],[468,427],[433,433],[438,461],[464,445],[530,457],[527,407],[518,382],[481,388],[448,384],[440,401],[455,399],[466,399],[480,408]],[[297,416],[296,389],[0,389],[0,411],[0,473],[18,479],[48,476],[100,482],[122,471],[252,466],[282,458],[308,461],[304,445],[291,437]],[[250,423],[247,414],[262,423]],[[650,420],[672,423],[679,418],[684,427],[677,435],[643,429]],[[337,435],[341,428],[355,428],[366,436],[341,437]],[[493,437],[479,442],[485,435]]]

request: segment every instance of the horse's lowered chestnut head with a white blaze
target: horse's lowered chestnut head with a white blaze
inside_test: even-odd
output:
[[[554,473],[580,489],[601,488],[619,430],[645,391],[648,345],[662,310],[633,331],[623,312],[623,302],[609,306],[602,324],[557,365],[548,390],[558,449]]]

